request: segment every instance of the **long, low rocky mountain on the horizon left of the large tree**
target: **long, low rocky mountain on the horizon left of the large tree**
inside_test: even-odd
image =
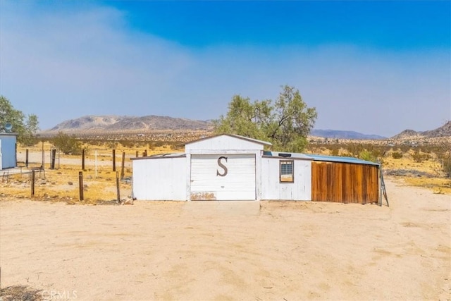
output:
[[[121,133],[128,131],[159,131],[159,130],[211,130],[211,122],[194,121],[185,118],[168,116],[82,116],[63,121],[42,134],[58,133]]]

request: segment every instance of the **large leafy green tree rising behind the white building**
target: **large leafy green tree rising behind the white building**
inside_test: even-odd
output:
[[[285,85],[274,104],[271,99],[251,102],[235,95],[227,115],[214,121],[214,133],[243,135],[271,142],[273,149],[283,152],[302,152],[317,116],[299,90]]]

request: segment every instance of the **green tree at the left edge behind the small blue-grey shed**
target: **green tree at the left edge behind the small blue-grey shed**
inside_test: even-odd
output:
[[[37,142],[36,132],[39,130],[39,121],[34,114],[25,115],[22,111],[14,109],[11,102],[0,96],[0,132],[6,130],[6,123],[13,125],[13,133],[18,134],[18,142],[22,145],[35,145]]]

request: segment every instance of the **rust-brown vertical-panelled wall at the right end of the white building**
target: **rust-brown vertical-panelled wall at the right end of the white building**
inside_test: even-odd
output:
[[[378,166],[312,162],[311,199],[319,202],[378,202]]]

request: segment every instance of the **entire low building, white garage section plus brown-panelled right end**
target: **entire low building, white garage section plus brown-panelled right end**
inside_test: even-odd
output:
[[[223,134],[188,142],[184,153],[132,158],[133,197],[378,202],[379,164],[265,147],[271,143]]]

